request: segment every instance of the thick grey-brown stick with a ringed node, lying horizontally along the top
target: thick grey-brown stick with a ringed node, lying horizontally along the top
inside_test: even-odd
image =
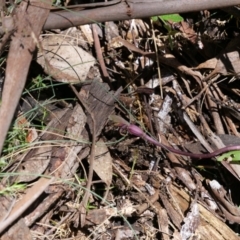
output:
[[[79,12],[50,13],[44,29],[69,28],[93,22],[146,18],[170,13],[194,12],[238,5],[239,0],[127,0],[118,4]]]

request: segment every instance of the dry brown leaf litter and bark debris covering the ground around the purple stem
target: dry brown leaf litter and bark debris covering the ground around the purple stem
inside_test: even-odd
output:
[[[108,121],[193,153],[239,143],[237,26],[226,32],[217,16],[226,28],[230,16],[211,13],[109,22],[98,39],[91,25],[41,35],[17,109],[26,135],[11,133],[2,154],[1,192],[19,184],[0,196],[3,239],[20,239],[19,228],[35,239],[239,239],[231,152],[221,163],[174,155]]]

